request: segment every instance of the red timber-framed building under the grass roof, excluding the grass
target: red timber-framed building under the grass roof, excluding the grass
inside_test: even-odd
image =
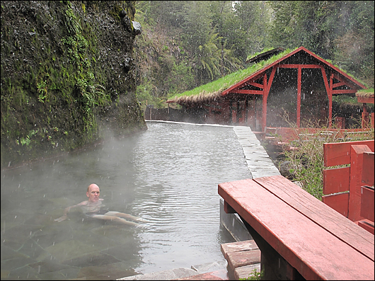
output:
[[[202,122],[266,127],[306,126],[307,120],[332,125],[333,96],[366,88],[359,81],[305,47],[287,53],[213,96],[175,98],[186,114]]]

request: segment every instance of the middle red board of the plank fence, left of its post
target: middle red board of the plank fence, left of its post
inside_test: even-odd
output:
[[[323,194],[349,191],[350,167],[323,170]]]

